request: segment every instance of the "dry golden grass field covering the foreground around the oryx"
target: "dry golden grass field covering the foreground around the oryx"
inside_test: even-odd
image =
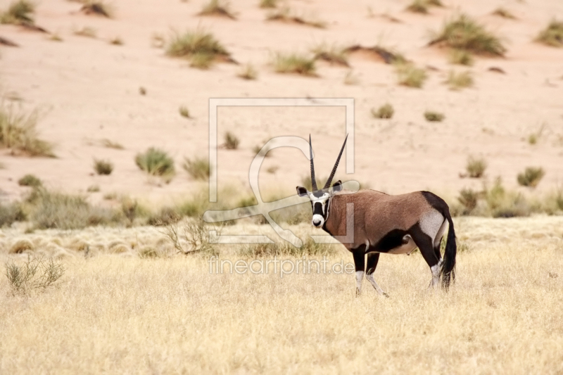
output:
[[[0,372],[560,374],[563,218],[455,224],[469,250],[450,293],[426,290],[419,253],[382,255],[388,299],[367,281],[354,298],[353,274],[210,274],[198,255],[150,258],[168,246],[151,227],[4,231],[0,260],[25,259],[7,248],[29,239],[66,271],[28,297],[0,278]]]

